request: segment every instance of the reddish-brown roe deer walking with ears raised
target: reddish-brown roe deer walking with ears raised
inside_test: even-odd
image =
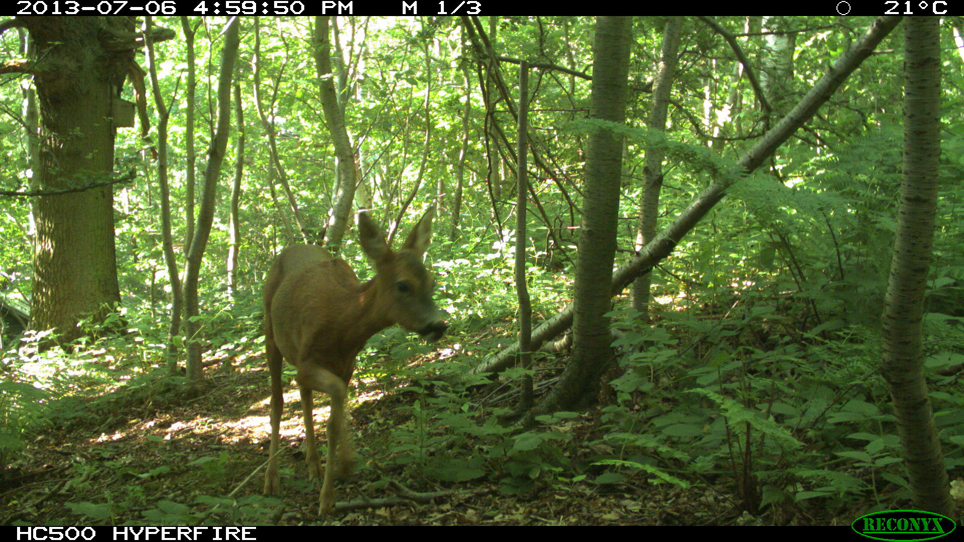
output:
[[[435,278],[422,257],[432,235],[435,207],[415,225],[401,250],[388,247],[382,230],[360,212],[359,240],[375,267],[375,278],[360,284],[343,259],[315,245],[281,251],[264,284],[264,344],[271,372],[271,450],[264,493],[278,492],[278,428],[284,407],[281,358],[297,367],[308,445],[308,475],[321,473],[314,438],[311,392],[332,398],[328,419],[328,459],[318,513],[335,506],[335,475],[351,470],[355,457],[345,432],[345,395],[355,357],[372,335],[392,324],[429,340],[442,338],[445,312],[432,300]]]

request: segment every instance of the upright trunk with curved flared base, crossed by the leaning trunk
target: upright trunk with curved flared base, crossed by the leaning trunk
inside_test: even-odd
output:
[[[601,16],[593,43],[590,119],[626,122],[629,43],[632,17]],[[609,344],[612,263],[616,254],[623,140],[595,127],[586,152],[579,259],[576,262],[576,314],[573,356],[560,382],[539,405],[540,412],[582,408],[599,396],[600,376],[612,359]]]

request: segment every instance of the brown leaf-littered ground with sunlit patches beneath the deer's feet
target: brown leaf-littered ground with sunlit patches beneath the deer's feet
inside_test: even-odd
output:
[[[536,491],[504,495],[498,481],[486,476],[441,486],[414,467],[383,469],[376,450],[388,448],[388,428],[405,421],[407,409],[397,407],[414,402],[415,395],[379,393],[377,383],[365,379],[355,383],[351,409],[360,468],[338,481],[336,497],[371,501],[321,519],[320,483],[308,480],[300,451],[304,430],[295,386],[285,387],[278,505],[258,497],[270,440],[266,369],[257,360],[251,368],[210,369],[207,382],[207,393],[194,398],[151,386],[91,397],[95,408],[35,437],[4,473],[0,525],[769,524],[735,514],[733,492],[721,480],[683,490],[641,475],[618,484],[546,482]],[[315,422],[323,437],[323,417]],[[593,430],[590,417],[578,420],[569,449],[588,452],[578,443],[590,440]],[[397,496],[395,483],[413,492],[451,493],[434,501],[378,504]],[[849,522],[843,516],[797,516],[786,523]]]

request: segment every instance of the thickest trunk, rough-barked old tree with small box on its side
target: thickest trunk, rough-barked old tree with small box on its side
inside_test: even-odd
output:
[[[114,171],[112,100],[134,62],[126,17],[23,17],[37,58],[41,189],[102,182]],[[77,322],[100,321],[120,303],[114,246],[114,189],[40,196],[31,327],[80,337]]]

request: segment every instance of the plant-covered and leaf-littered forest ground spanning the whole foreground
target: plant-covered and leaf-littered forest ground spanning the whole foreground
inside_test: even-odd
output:
[[[124,338],[21,357],[16,363],[62,366],[47,392],[19,389],[36,393],[42,413],[6,405],[22,433],[21,447],[6,454],[0,521],[846,525],[899,507],[906,482],[897,437],[886,429],[893,417],[875,374],[873,335],[859,327],[849,337],[803,333],[791,312],[764,310],[754,295],[764,294],[732,295],[729,307],[704,303],[699,319],[661,312],[654,326],[639,326],[629,309],[613,312],[619,361],[601,405],[539,417],[528,429],[501,421],[526,371],[466,377],[487,346],[504,340],[503,323],[435,349],[401,334],[374,340],[351,399],[359,468],[338,482],[341,508],[324,519],[315,514],[319,484],[308,480],[290,383],[281,495],[260,495],[269,424],[259,339],[212,349],[207,391],[194,395],[179,385],[186,380],[137,366]],[[528,371],[537,391],[563,363],[543,357]],[[57,379],[70,371],[88,376],[65,387]],[[316,405],[319,430],[326,404]],[[938,415],[953,411],[935,404]]]

